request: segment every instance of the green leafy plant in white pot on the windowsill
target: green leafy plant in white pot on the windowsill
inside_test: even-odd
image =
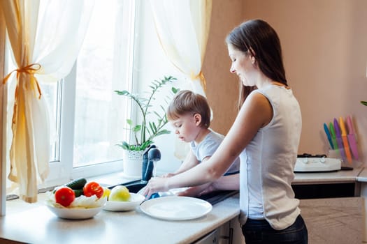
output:
[[[176,78],[172,76],[164,77],[160,81],[154,80],[150,84],[149,96],[142,97],[138,94],[130,93],[129,91],[115,91],[120,96],[126,96],[136,103],[138,112],[140,112],[140,122],[133,119],[127,119],[127,125],[132,132],[133,139],[131,142],[121,142],[117,144],[124,149],[124,174],[127,176],[141,176],[142,157],[154,142],[153,139],[159,135],[169,134],[170,131],[164,129],[164,125],[168,123],[166,117],[166,108],[162,105],[153,107],[151,102],[155,100],[155,96],[163,86],[171,84]],[[171,87],[173,94],[178,92],[178,89]],[[164,100],[168,105],[168,101]]]

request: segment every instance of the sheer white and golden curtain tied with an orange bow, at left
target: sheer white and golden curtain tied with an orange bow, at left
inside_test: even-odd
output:
[[[3,79],[16,79],[8,178],[19,183],[24,201],[37,201],[37,183],[48,176],[50,121],[40,84],[69,73],[93,6],[92,0],[0,1],[17,66],[16,75]]]

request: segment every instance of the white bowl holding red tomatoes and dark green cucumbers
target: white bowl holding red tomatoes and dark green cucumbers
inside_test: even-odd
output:
[[[103,187],[94,181],[79,178],[46,192],[45,205],[59,218],[82,220],[92,218],[105,206]]]

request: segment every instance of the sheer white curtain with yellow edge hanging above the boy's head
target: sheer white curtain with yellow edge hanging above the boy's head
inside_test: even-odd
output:
[[[210,28],[212,0],[151,0],[156,31],[168,59],[192,89],[205,96],[201,71]]]

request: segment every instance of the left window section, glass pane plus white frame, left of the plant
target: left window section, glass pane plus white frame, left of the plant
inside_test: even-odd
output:
[[[122,150],[115,144],[128,136],[122,125],[131,111],[114,90],[131,90],[134,17],[135,1],[96,0],[71,73],[57,84],[41,84],[53,143],[50,175],[41,187],[122,169]],[[7,63],[10,72],[15,66]]]

